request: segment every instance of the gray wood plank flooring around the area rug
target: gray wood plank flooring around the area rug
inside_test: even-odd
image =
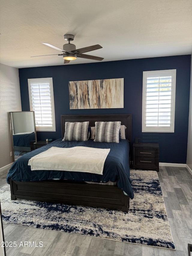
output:
[[[6,185],[8,170],[0,172],[0,187]],[[192,175],[186,168],[160,167],[158,173],[176,250],[91,238],[51,230],[4,224],[7,256],[187,256],[192,244]],[[20,241],[40,241],[42,247],[18,247]]]

